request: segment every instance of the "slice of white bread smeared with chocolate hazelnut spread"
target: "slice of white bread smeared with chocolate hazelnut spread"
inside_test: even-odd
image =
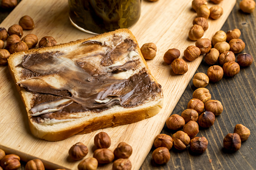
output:
[[[40,55],[50,57],[41,61],[44,57]],[[57,141],[76,133],[134,123],[154,116],[162,107],[161,86],[151,75],[135,37],[127,29],[15,53],[8,63],[26,107],[31,132],[38,138]],[[133,63],[134,67],[119,68],[127,63]],[[142,75],[148,80],[144,81]],[[46,90],[40,91],[41,86]],[[54,94],[48,94],[47,89]],[[97,94],[91,95],[95,90]],[[63,91],[68,95],[59,96]],[[89,96],[89,100],[89,94],[97,97]],[[94,101],[90,103],[92,107],[86,105],[88,101]],[[78,111],[78,105],[86,109]],[[73,111],[67,111],[68,107]]]

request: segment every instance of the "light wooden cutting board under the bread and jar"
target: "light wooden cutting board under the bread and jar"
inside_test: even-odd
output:
[[[164,105],[161,111],[143,121],[114,128],[97,130],[89,134],[74,135],[63,141],[49,142],[35,138],[29,129],[25,107],[16,90],[6,66],[0,67],[0,148],[8,153],[16,153],[27,161],[40,158],[48,168],[76,169],[79,161],[68,158],[68,149],[76,142],[83,142],[89,147],[89,154],[93,155],[94,136],[105,131],[112,140],[111,150],[119,142],[125,141],[133,148],[129,158],[132,169],[139,169],[146,155],[152,147],[154,137],[162,130],[165,120],[172,113],[189,81],[200,65],[203,56],[193,62],[188,62],[189,71],[184,75],[175,75],[172,68],[163,62],[163,54],[170,48],[177,48],[183,52],[195,42],[188,39],[188,32],[196,13],[191,8],[192,0],[160,0],[155,3],[142,1],[141,17],[130,30],[135,35],[139,46],[153,42],[157,46],[157,55],[147,64],[151,73],[164,93]],[[235,0],[223,1],[219,4],[224,9],[223,16],[218,20],[208,19],[209,29],[204,37],[211,39],[214,33],[221,29],[228,15],[232,11]],[[210,2],[208,7],[213,6]],[[31,16],[35,21],[35,29],[24,31],[24,35],[33,33],[41,39],[53,36],[58,43],[66,43],[77,39],[92,37],[74,28],[68,19],[68,4],[64,0],[33,1],[23,0],[13,12],[1,23],[0,27],[9,28],[18,24],[19,19]],[[192,98],[192,96],[191,96]],[[181,114],[181,113],[178,113]],[[111,169],[112,164],[99,169]]]

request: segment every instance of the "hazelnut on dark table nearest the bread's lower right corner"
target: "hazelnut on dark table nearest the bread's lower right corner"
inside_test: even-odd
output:
[[[166,120],[166,126],[168,129],[178,130],[185,125],[185,120],[178,114],[173,114]]]

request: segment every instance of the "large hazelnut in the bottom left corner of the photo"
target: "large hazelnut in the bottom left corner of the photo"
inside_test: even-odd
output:
[[[6,170],[17,169],[21,166],[20,160],[16,154],[7,154],[1,159],[1,166]]]

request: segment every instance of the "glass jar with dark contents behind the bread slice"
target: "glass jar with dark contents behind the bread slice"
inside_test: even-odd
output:
[[[68,0],[69,19],[88,33],[129,28],[140,17],[141,0]]]

